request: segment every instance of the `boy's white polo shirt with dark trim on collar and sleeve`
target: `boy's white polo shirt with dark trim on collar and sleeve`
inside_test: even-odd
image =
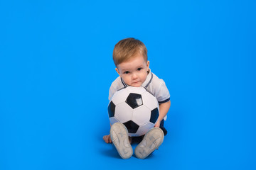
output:
[[[110,86],[109,100],[111,100],[116,91],[126,86],[128,85],[124,83],[123,79],[121,77],[117,77],[117,79],[115,79]],[[147,75],[142,86],[144,86],[147,91],[150,91],[151,94],[156,97],[159,104],[170,101],[170,94],[164,80],[156,77],[156,75],[152,73],[150,69],[149,74]],[[166,118],[167,117],[165,117],[164,120],[166,120]]]

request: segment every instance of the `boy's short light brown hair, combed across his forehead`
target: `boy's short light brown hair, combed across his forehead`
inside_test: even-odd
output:
[[[144,43],[135,38],[125,38],[114,45],[113,60],[114,64],[121,64],[127,60],[132,59],[137,54],[143,55],[145,62],[147,62],[147,50]]]

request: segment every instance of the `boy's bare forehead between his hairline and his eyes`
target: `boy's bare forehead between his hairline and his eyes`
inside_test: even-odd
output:
[[[137,69],[137,67],[142,67],[146,64],[146,61],[144,60],[143,55],[136,55],[134,57],[132,57],[131,59],[122,62],[120,64],[118,64],[118,69]]]

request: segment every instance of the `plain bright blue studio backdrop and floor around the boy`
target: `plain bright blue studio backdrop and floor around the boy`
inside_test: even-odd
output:
[[[0,1],[0,169],[256,169],[255,1]],[[163,145],[102,140],[114,45],[142,40],[171,108]],[[136,147],[136,145],[133,145]]]

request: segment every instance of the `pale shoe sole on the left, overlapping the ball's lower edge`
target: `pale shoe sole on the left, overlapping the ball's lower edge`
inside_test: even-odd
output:
[[[110,137],[122,159],[132,157],[133,150],[129,143],[128,130],[122,123],[114,123],[111,126]]]

